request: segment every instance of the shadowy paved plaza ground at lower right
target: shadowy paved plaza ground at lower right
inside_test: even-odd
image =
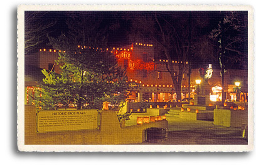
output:
[[[211,121],[169,118],[167,137],[158,142],[136,145],[247,145],[238,127],[213,125]]]

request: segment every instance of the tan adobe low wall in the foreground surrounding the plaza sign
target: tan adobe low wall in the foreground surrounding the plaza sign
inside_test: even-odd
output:
[[[36,133],[35,106],[25,105],[24,114],[25,145],[113,145],[141,143],[145,140],[146,128],[168,128],[166,120],[121,128],[116,113],[110,110],[103,110],[100,113],[100,127],[98,130]]]

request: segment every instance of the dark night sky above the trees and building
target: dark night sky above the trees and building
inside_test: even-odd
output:
[[[33,11],[26,11],[25,14]],[[56,21],[55,26],[48,28],[48,35],[51,37],[58,37],[61,33],[67,33],[68,27],[65,23],[70,13],[86,13],[86,14],[95,14],[92,17],[102,18],[103,23],[110,25],[108,31],[108,45],[109,46],[124,46],[131,44],[129,41],[129,33],[131,32],[132,19],[140,17],[142,14],[155,13],[156,11],[41,11],[41,16],[39,20],[42,23],[49,23],[50,21]],[[218,26],[218,21],[220,20],[220,14],[225,13],[223,11],[190,11],[192,17],[198,17],[202,22],[198,21],[196,24],[203,24],[206,21],[206,26],[203,28],[197,29],[200,34],[208,34],[211,29],[214,29]],[[242,19],[247,19],[247,11],[238,11]],[[157,11],[161,13],[166,18],[178,18],[184,19],[188,18],[189,11]],[[39,14],[40,15],[40,14]],[[247,32],[245,32],[245,38],[247,38]],[[136,41],[134,41],[136,42]],[[37,46],[39,48],[50,48],[51,46],[47,45],[48,39],[45,38],[45,41]],[[247,44],[244,46],[243,52],[247,53]],[[247,57],[245,57],[247,59]]]

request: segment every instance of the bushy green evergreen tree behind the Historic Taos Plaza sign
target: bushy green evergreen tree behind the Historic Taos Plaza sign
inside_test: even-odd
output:
[[[60,75],[43,71],[48,93],[42,95],[56,98],[53,105],[75,103],[77,109],[100,109],[104,101],[119,106],[126,98],[127,76],[105,47],[107,28],[102,19],[96,18],[95,13],[70,13],[67,24],[67,34],[49,37],[53,48],[65,53],[61,51],[56,61]]]

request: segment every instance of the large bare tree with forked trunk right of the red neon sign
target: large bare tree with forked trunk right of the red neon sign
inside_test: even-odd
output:
[[[191,16],[193,14],[193,17]],[[207,24],[205,18],[200,18],[201,13],[157,11],[143,13],[132,20],[133,33],[131,39],[147,40],[154,42],[157,54],[166,58],[166,70],[170,73],[178,100],[181,100],[181,85],[183,74],[188,70],[186,61],[191,61],[195,49],[202,47],[200,39],[205,35],[198,29],[203,29]],[[196,22],[196,23],[194,23]],[[193,23],[193,26],[191,24]],[[198,48],[196,48],[196,46]],[[174,67],[172,61],[179,61]]]

